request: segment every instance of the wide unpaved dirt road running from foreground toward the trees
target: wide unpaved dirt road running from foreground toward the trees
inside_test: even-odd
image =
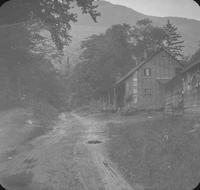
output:
[[[104,122],[66,115],[48,134],[0,161],[8,190],[132,190],[109,160]]]

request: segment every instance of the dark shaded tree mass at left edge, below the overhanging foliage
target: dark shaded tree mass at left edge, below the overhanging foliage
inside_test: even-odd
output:
[[[1,86],[2,93],[8,91],[4,103],[14,105],[32,98],[60,108],[65,104],[65,85],[44,56],[46,52],[35,52],[38,40],[33,39],[27,24],[1,27],[1,85],[9,81]]]

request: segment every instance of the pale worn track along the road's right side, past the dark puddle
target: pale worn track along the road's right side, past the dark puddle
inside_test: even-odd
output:
[[[109,160],[103,142],[107,139],[105,133],[105,123],[97,122],[93,119],[80,117],[76,114],[73,116],[85,127],[85,142],[102,142],[99,144],[86,144],[91,153],[92,161],[98,169],[105,190],[133,190],[116,169],[114,164]]]

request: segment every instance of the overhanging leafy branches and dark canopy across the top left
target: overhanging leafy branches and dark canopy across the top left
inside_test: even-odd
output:
[[[95,0],[76,0],[82,13],[90,14],[96,21]],[[51,33],[53,42],[59,50],[70,41],[68,31],[71,22],[77,21],[73,12],[74,0],[10,0],[1,7],[0,24],[13,24],[31,19],[39,19]],[[12,13],[12,14],[10,14]]]

